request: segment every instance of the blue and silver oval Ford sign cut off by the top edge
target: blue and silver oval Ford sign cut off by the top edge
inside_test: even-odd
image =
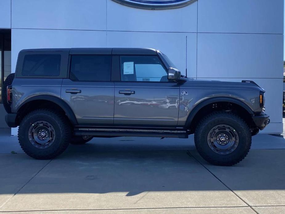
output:
[[[120,4],[149,10],[163,10],[189,5],[197,0],[113,0]]]

